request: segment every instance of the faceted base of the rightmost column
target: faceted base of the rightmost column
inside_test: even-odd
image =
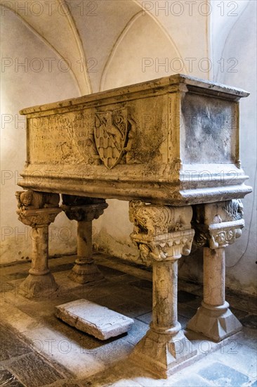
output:
[[[204,302],[192,319],[187,323],[187,329],[204,334],[213,341],[221,341],[224,338],[241,331],[242,324],[232,314],[229,304],[212,306]]]

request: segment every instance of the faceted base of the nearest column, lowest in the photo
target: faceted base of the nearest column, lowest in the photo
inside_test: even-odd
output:
[[[175,372],[185,360],[197,355],[183,331],[160,334],[150,329],[130,355],[131,360],[161,378]]]

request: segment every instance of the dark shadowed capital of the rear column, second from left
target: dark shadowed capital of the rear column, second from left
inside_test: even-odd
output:
[[[62,205],[60,208],[65,212],[70,220],[90,222],[103,215],[108,207],[105,199],[84,198],[82,196],[62,195]]]

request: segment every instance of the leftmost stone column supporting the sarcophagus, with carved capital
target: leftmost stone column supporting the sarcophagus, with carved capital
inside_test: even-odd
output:
[[[18,191],[19,220],[32,227],[32,267],[19,291],[27,298],[51,297],[57,291],[53,274],[48,269],[48,226],[61,212],[58,194]]]

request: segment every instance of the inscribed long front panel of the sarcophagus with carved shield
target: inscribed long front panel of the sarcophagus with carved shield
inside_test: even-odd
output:
[[[105,165],[109,170],[118,164],[162,163],[169,122],[164,101],[157,96],[143,105],[136,100],[35,115],[28,119],[29,163]]]

